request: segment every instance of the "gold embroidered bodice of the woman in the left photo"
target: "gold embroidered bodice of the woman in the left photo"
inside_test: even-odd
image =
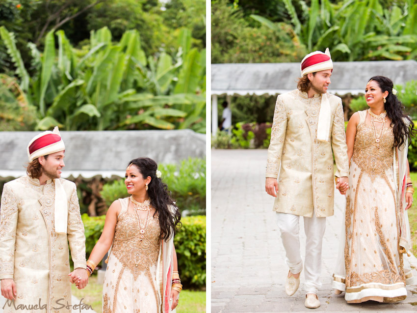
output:
[[[132,272],[135,280],[140,272],[148,272],[149,268],[156,264],[160,232],[157,216],[149,216],[148,227],[144,234],[140,234],[134,212],[125,210],[119,214],[112,253]]]

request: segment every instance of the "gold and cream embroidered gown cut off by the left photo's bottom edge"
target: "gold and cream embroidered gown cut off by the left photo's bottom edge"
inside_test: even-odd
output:
[[[140,234],[134,212],[127,209],[128,203],[129,198],[121,199],[122,210],[104,275],[103,313],[160,312],[160,286],[156,285],[159,221],[150,216],[145,234]]]

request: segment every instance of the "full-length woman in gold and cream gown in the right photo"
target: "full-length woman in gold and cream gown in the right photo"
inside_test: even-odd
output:
[[[347,124],[350,188],[333,287],[346,291],[348,303],[404,300],[412,279],[403,254],[411,249],[407,150],[416,130],[395,94],[389,78],[372,77],[365,86],[369,109]]]

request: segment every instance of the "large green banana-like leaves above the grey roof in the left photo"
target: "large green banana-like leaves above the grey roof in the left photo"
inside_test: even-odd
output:
[[[183,129],[205,132],[206,51],[191,46],[181,29],[174,56],[146,56],[137,30],[112,41],[108,28],[91,31],[74,48],[63,30],[51,30],[44,51],[28,43],[29,75],[15,35],[0,28],[28,106],[37,108],[36,129]],[[58,47],[57,51],[55,46]]]

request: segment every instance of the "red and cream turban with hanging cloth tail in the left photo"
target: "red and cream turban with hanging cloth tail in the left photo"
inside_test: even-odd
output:
[[[41,156],[62,150],[65,150],[65,145],[59,134],[58,127],[55,127],[52,132],[46,131],[32,138],[27,145],[27,156],[29,161],[32,162]],[[67,195],[61,181],[59,179],[54,179],[53,181],[55,185],[55,231],[57,233],[67,233]]]

